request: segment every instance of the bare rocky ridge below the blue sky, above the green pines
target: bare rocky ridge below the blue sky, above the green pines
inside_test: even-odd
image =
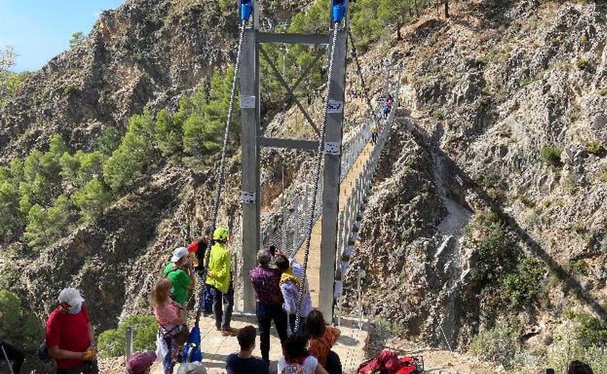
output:
[[[82,44],[50,60],[0,112],[2,156],[55,133],[88,149],[146,105],[174,107],[234,58],[236,32],[235,13],[223,16],[215,1],[133,1],[103,12]]]

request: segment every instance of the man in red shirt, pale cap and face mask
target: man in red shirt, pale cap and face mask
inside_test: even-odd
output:
[[[46,322],[46,346],[57,362],[57,374],[98,374],[94,344],[84,299],[76,289],[63,289]]]

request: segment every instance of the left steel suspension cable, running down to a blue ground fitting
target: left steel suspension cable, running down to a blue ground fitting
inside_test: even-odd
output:
[[[225,164],[226,164],[226,153],[228,150],[230,123],[232,121],[232,110],[234,109],[234,99],[236,98],[236,82],[238,81],[238,73],[240,70],[240,53],[242,52],[242,40],[245,36],[245,25],[246,21],[243,19],[240,24],[240,38],[238,42],[238,51],[236,53],[236,64],[234,65],[234,77],[232,78],[232,91],[230,93],[229,106],[228,106],[228,118],[226,119],[226,128],[223,133],[223,145],[222,145],[222,156],[219,162],[219,175],[217,176],[217,185],[215,185],[215,197],[213,199],[212,209],[212,221],[211,221],[211,238],[209,238],[206,244],[205,261],[203,264],[202,273],[202,284],[200,285],[200,298],[198,300],[198,310],[196,312],[195,326],[198,327],[200,323],[200,316],[202,315],[202,304],[203,292],[205,290],[206,276],[209,273],[209,257],[211,256],[211,242],[212,235],[215,232],[215,226],[217,225],[217,215],[219,213],[219,202],[222,195],[223,183],[225,182]],[[198,249],[200,250],[200,249]]]

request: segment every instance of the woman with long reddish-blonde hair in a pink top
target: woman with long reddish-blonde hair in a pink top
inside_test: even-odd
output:
[[[170,279],[164,278],[154,284],[149,302],[160,325],[156,354],[163,358],[164,374],[172,374],[180,349],[175,336],[181,332],[185,321],[180,316],[180,307],[171,299]]]

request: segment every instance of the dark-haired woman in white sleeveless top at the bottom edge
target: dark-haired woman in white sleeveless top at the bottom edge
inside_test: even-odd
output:
[[[328,374],[318,364],[316,357],[306,349],[308,338],[302,334],[291,334],[282,345],[283,357],[278,360],[279,374]]]

